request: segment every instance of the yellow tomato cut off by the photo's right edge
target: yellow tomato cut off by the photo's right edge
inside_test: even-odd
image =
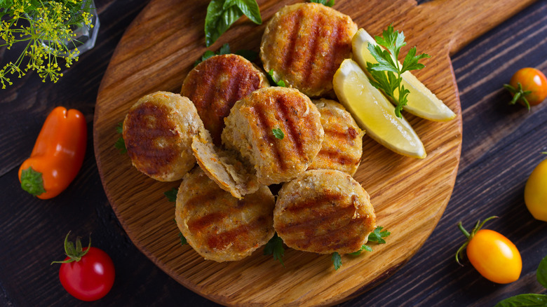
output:
[[[547,160],[541,161],[528,177],[525,203],[535,219],[547,221]]]

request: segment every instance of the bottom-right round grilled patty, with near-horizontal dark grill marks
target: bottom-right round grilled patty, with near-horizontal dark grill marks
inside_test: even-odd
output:
[[[368,193],[338,170],[308,170],[284,184],[274,210],[274,228],[288,247],[319,254],[356,252],[375,224]]]

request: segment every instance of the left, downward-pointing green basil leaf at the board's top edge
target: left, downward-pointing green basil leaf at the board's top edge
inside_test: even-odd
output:
[[[237,6],[224,10],[224,0],[210,1],[205,16],[205,45],[211,46],[241,15]]]

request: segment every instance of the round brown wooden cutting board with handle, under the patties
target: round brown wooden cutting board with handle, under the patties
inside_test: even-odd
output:
[[[210,50],[223,43],[230,43],[231,50],[259,50],[269,18],[298,1],[258,2],[264,25],[241,18]],[[404,53],[417,46],[431,55],[416,75],[457,113],[446,123],[404,114],[424,142],[424,160],[399,156],[365,135],[363,159],[354,177],[370,193],[377,224],[391,236],[386,245],[372,245],[374,252],[343,256],[338,271],[330,255],[290,249],[285,250],[285,268],[262,255],[262,248],[243,261],[203,260],[188,245],[180,245],[174,203],[163,196],[180,182],[149,179],[114,148],[116,125],[129,107],[156,90],[179,93],[192,64],[207,50],[203,20],[208,1],[152,0],[123,35],[95,109],[95,156],[104,191],[133,243],[175,280],[212,301],[229,306],[314,306],[357,296],[417,252],[450,199],[461,150],[461,108],[450,55],[532,2],[438,0],[417,6],[411,0],[336,1],[334,8],[370,34],[379,35],[393,22],[407,36]]]

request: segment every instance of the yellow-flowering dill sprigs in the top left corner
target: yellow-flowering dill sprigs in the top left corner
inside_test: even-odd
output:
[[[78,60],[72,30],[93,27],[91,10],[91,1],[86,0],[0,0],[0,47],[27,43],[15,62],[0,69],[2,88],[13,84],[8,74],[21,78],[29,70],[43,82],[57,82],[62,76],[58,57],[65,59],[66,67]]]

